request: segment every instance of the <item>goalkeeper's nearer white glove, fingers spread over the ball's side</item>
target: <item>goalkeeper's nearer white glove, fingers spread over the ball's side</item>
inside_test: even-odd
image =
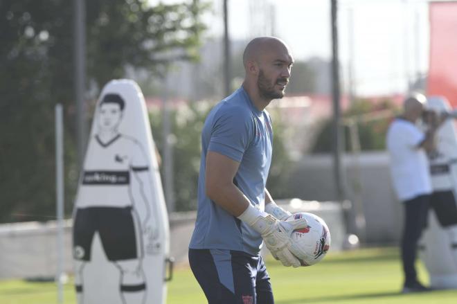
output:
[[[292,246],[290,235],[295,229],[305,228],[308,224],[307,220],[301,218],[287,222],[280,221],[251,204],[238,218],[262,235],[265,245],[276,260],[280,260],[286,267],[300,266],[300,261],[295,257],[299,256],[300,252]]]

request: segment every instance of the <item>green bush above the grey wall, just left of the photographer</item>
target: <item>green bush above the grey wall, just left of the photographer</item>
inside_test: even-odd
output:
[[[370,114],[374,114],[379,111],[391,111],[391,116],[376,119],[373,116],[373,120],[359,121],[358,118],[369,117]],[[357,124],[357,130],[359,133],[360,149],[362,151],[370,150],[384,150],[386,148],[386,132],[391,118],[397,112],[397,107],[390,100],[384,100],[383,102],[373,103],[369,100],[356,100],[342,116],[343,121],[347,121],[347,118],[352,118]],[[333,121],[332,119],[326,119],[322,122],[321,132],[316,137],[316,141],[312,147],[312,153],[326,153],[332,152],[333,149]],[[343,138],[344,138],[344,151],[350,152],[351,138],[350,129],[348,124],[343,125]]]

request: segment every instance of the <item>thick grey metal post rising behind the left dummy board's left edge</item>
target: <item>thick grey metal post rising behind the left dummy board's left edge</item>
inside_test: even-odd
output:
[[[86,92],[86,6],[85,0],[73,0],[73,62],[75,71],[75,102],[76,102],[76,132],[78,143],[78,161],[80,167],[84,161],[86,147],[86,114],[84,109],[84,97]]]

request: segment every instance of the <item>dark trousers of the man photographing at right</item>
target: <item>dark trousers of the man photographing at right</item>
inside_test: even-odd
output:
[[[418,252],[420,235],[422,235],[422,231],[427,226],[430,197],[430,195],[420,195],[403,202],[404,230],[401,253],[406,285],[417,280],[414,264]]]

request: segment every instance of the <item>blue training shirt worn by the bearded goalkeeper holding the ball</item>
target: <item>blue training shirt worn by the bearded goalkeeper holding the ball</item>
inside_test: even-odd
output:
[[[201,132],[197,221],[189,248],[237,250],[258,255],[262,244],[260,234],[206,196],[206,153],[208,150],[217,152],[240,162],[233,182],[253,206],[263,211],[272,143],[268,112],[259,111],[243,87],[210,111]]]

